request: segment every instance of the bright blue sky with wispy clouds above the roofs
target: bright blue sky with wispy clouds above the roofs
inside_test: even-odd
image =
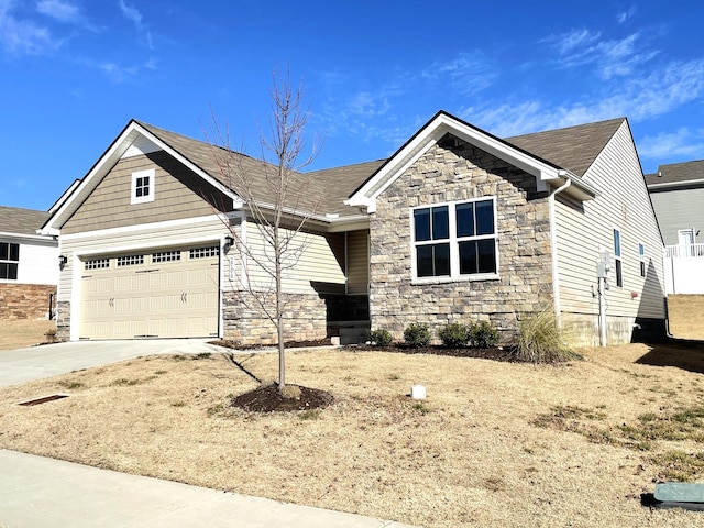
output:
[[[646,173],[704,158],[704,2],[0,0],[0,205],[47,209],[130,119],[257,154],[274,72],[311,168],[387,157],[438,110],[499,136],[626,116]]]

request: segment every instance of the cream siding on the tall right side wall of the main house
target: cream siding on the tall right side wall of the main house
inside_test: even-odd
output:
[[[584,202],[583,208],[559,195],[556,199],[562,311],[598,314],[598,300],[593,296],[597,285],[596,262],[601,248],[613,257],[614,229],[618,229],[624,286],[616,286],[614,266],[610,289],[606,293],[607,314],[663,319],[662,242],[626,121],[584,179],[600,190],[596,199]],[[646,278],[640,276],[639,243],[646,246]]]

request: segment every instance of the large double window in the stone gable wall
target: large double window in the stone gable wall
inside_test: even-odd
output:
[[[495,275],[498,252],[494,209],[493,198],[414,209],[414,276]]]

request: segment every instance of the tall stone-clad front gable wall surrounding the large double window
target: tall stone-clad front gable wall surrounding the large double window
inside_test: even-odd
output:
[[[452,139],[450,139],[452,140]],[[464,142],[441,140],[376,200],[371,218],[372,329],[488,320],[509,341],[521,312],[552,302],[547,193],[535,177]],[[446,145],[446,146],[441,146]],[[410,208],[496,197],[499,279],[413,284]]]

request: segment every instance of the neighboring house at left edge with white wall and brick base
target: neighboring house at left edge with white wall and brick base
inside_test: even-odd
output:
[[[0,206],[0,320],[51,319],[58,242],[37,230],[50,213]]]

